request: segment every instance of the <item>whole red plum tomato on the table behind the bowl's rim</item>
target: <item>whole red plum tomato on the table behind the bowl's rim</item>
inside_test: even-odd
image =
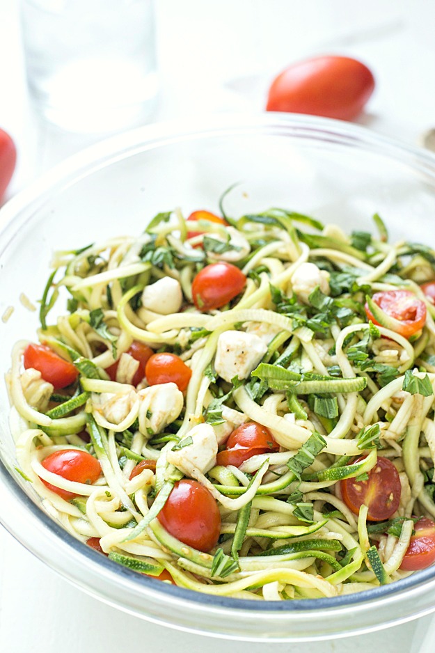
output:
[[[317,56],[283,70],[269,88],[267,111],[352,120],[372,95],[374,77],[361,61]]]

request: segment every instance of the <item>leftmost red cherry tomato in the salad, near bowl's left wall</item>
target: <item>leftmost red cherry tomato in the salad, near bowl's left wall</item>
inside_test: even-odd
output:
[[[27,345],[24,350],[24,368],[38,370],[42,379],[51,383],[55,390],[70,386],[79,376],[74,365],[61,359],[53,349],[46,345],[33,345],[33,343]]]

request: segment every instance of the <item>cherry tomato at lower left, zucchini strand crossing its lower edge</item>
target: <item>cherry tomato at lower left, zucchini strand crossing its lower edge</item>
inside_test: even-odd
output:
[[[53,474],[58,474],[62,478],[75,481],[77,483],[86,483],[92,485],[100,478],[101,465],[100,461],[90,455],[87,451],[79,449],[63,449],[44,458],[41,462],[42,467]],[[41,478],[44,485],[51,489],[59,496],[69,501],[70,498],[77,496],[74,492],[68,492],[56,485],[45,481]]]

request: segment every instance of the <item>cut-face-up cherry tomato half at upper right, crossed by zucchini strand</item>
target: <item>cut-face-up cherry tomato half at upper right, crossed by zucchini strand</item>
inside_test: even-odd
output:
[[[389,317],[394,317],[401,324],[396,333],[400,333],[404,338],[411,338],[425,326],[426,306],[425,302],[418,299],[411,290],[385,290],[384,292],[375,292],[372,300],[379,306]],[[375,320],[372,311],[365,304],[365,313],[368,320],[373,324],[381,326]]]

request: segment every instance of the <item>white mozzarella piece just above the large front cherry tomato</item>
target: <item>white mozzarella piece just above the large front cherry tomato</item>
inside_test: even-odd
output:
[[[214,428],[209,424],[198,424],[184,436],[180,444],[186,446],[168,451],[166,459],[187,476],[193,470],[207,473],[216,464],[218,443]]]

